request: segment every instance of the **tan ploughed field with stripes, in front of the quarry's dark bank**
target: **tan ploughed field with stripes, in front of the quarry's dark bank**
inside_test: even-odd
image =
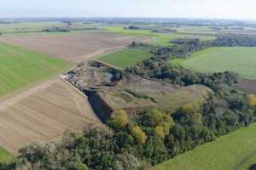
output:
[[[20,147],[61,139],[65,130],[101,126],[85,96],[53,79],[0,103],[0,145],[16,154]]]

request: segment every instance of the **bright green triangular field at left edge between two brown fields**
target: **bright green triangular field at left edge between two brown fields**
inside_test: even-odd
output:
[[[0,96],[67,70],[66,61],[0,43]]]

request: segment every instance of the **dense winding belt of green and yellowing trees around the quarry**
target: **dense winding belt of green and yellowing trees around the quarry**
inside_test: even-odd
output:
[[[188,103],[175,112],[152,109],[132,115],[119,110],[106,127],[67,132],[61,144],[30,145],[20,150],[14,163],[0,169],[148,169],[246,127],[256,121],[256,96],[233,86],[238,80],[236,73],[198,73],[167,61],[214,46],[254,46],[254,41],[250,37],[221,36],[214,42],[178,39],[172,47],[152,47],[154,57],[126,71],[180,86],[205,85],[212,94],[203,105]],[[139,45],[143,44],[133,42],[131,47]]]

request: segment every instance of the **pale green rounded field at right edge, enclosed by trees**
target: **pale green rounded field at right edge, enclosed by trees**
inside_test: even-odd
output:
[[[256,48],[207,48],[171,63],[201,72],[235,71],[241,77],[256,79]]]

